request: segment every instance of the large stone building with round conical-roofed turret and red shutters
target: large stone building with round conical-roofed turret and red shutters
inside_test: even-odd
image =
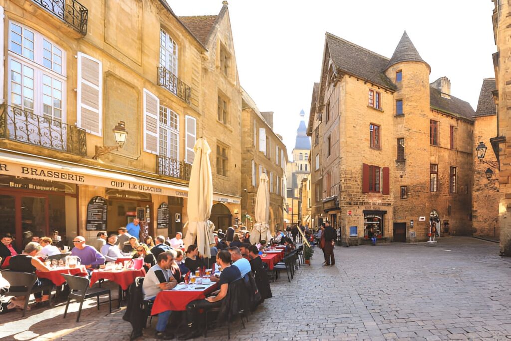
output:
[[[471,232],[474,111],[429,74],[406,32],[390,59],[326,34],[309,132],[321,144],[317,199],[344,243],[369,229],[393,241],[426,240],[431,225]]]

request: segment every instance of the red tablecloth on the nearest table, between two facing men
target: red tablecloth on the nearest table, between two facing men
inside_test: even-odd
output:
[[[203,291],[162,290],[158,292],[156,299],[154,299],[151,315],[156,315],[165,310],[185,310],[188,303],[205,299],[208,293],[215,291],[217,288],[218,284],[211,285]]]

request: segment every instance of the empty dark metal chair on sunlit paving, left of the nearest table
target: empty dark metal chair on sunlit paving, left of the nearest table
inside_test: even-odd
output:
[[[78,309],[78,316],[76,317],[76,322],[80,320],[80,314],[82,313],[83,301],[89,299],[91,297],[96,297],[98,300],[98,310],[99,310],[99,297],[100,295],[108,294],[108,304],[110,307],[110,312],[112,312],[112,297],[110,293],[110,289],[103,288],[89,288],[90,281],[86,277],[74,276],[62,274],[65,278],[67,285],[69,285],[69,297],[67,299],[67,303],[65,305],[64,310],[64,319],[67,315],[67,308],[69,307],[69,302],[75,299],[77,302],[80,302],[80,308]]]

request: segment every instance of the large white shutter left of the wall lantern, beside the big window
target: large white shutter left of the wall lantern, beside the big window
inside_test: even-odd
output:
[[[77,124],[91,134],[103,134],[102,63],[78,53]]]

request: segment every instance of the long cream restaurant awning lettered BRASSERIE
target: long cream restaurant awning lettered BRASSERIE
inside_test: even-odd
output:
[[[188,196],[187,186],[174,185],[159,179],[5,151],[0,151],[0,175],[62,181],[77,185],[100,186],[177,197]],[[222,193],[213,193],[213,200],[240,203],[240,197]]]

